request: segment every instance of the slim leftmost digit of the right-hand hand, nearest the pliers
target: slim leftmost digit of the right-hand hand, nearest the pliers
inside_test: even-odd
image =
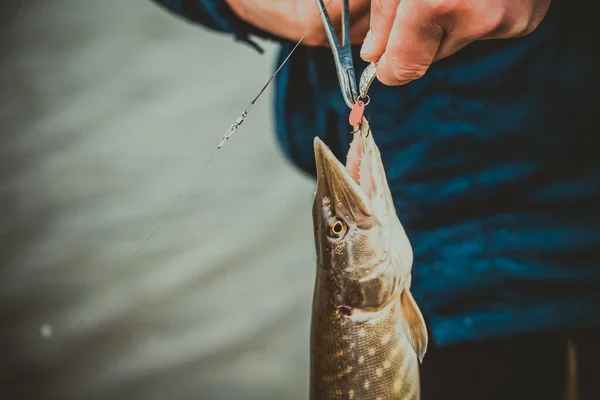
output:
[[[400,0],[372,0],[371,24],[360,49],[365,61],[377,61],[385,51]]]

